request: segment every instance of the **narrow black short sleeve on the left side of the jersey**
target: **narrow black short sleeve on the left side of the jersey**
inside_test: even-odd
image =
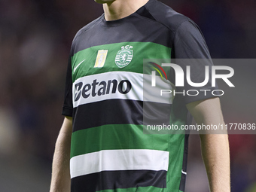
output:
[[[72,103],[72,65],[71,56],[69,56],[69,63],[66,73],[66,86],[64,104],[62,108],[62,115],[72,117],[73,114],[73,103]]]

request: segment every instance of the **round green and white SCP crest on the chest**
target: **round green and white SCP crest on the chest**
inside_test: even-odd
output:
[[[122,50],[119,50],[117,52],[117,55],[115,56],[115,64],[119,68],[123,68],[125,66],[128,66],[129,63],[133,59],[133,50],[131,50],[133,46],[126,45],[121,47]]]

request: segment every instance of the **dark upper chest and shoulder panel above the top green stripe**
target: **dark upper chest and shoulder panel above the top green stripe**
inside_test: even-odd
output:
[[[172,47],[175,30],[189,20],[157,0],[120,20],[106,21],[104,14],[84,26],[74,38],[72,56],[89,47],[120,42],[152,42]]]

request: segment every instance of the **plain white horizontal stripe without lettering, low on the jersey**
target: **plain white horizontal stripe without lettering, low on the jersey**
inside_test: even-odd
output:
[[[71,178],[93,172],[168,169],[169,152],[145,149],[103,150],[72,157]]]

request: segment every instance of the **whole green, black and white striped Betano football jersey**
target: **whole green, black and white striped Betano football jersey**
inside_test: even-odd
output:
[[[185,105],[212,97],[143,97],[143,59],[175,58],[210,56],[197,25],[156,0],[120,20],[102,15],[77,33],[62,110],[73,117],[72,192],[184,191],[188,136],[143,133],[144,108],[156,114],[149,119],[187,124]],[[172,87],[171,69],[168,78]]]

